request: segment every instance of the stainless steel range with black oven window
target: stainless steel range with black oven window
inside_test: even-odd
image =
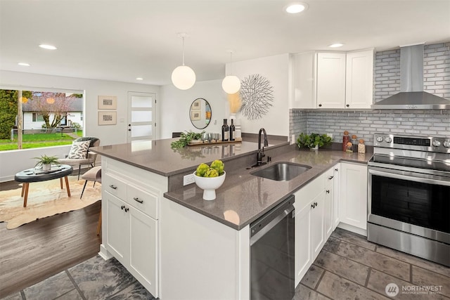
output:
[[[375,133],[373,152],[368,240],[450,266],[450,136]]]

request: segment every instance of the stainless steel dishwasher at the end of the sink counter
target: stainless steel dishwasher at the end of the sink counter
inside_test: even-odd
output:
[[[288,197],[250,224],[250,299],[293,299],[294,200]]]

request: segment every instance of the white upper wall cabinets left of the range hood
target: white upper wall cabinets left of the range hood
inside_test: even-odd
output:
[[[371,108],[373,49],[292,56],[293,108]]]

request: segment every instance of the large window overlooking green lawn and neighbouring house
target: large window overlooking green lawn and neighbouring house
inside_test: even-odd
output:
[[[82,91],[0,86],[0,151],[70,144],[83,136],[83,110]]]

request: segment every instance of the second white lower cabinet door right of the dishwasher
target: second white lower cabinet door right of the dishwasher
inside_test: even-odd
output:
[[[325,244],[325,191],[311,203],[311,251],[312,261],[316,259]]]

